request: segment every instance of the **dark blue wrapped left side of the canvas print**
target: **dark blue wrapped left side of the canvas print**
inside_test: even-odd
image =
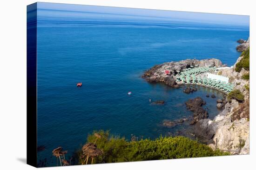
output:
[[[27,164],[37,166],[37,3],[27,6]]]

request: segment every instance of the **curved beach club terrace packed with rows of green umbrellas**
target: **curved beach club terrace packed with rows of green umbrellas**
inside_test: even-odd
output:
[[[211,74],[216,67],[193,67],[183,69],[176,76],[176,82],[181,84],[197,84],[209,88],[216,88],[222,92],[229,93],[234,85],[229,83],[229,78],[225,76]]]

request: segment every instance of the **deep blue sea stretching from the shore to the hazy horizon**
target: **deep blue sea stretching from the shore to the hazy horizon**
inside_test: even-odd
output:
[[[185,94],[182,88],[146,82],[141,75],[156,64],[187,58],[217,58],[231,66],[241,54],[236,40],[249,37],[249,28],[243,26],[94,19],[100,13],[76,18],[80,15],[38,10],[37,140],[45,146],[38,159],[47,158],[48,165],[56,164],[54,148],[62,146],[71,156],[94,130],[110,130],[128,140],[131,134],[150,139],[185,135],[189,122],[173,128],[162,122],[191,117],[184,102],[197,96],[207,102],[204,107],[214,118],[221,92],[197,87],[197,92]],[[166,103],[151,105],[149,99]]]

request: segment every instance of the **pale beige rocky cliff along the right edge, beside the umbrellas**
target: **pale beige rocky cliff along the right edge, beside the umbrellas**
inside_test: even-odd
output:
[[[243,57],[239,57],[236,63]],[[236,63],[232,69],[222,69],[217,74],[229,77],[229,81],[235,84],[234,89],[244,95],[244,101],[239,103],[226,99],[225,108],[213,120],[197,122],[195,134],[212,142],[209,146],[213,149],[217,146],[221,150],[238,152],[241,146],[239,154],[249,154],[249,80],[243,79],[243,75],[249,74],[249,71],[242,69],[236,72]]]

